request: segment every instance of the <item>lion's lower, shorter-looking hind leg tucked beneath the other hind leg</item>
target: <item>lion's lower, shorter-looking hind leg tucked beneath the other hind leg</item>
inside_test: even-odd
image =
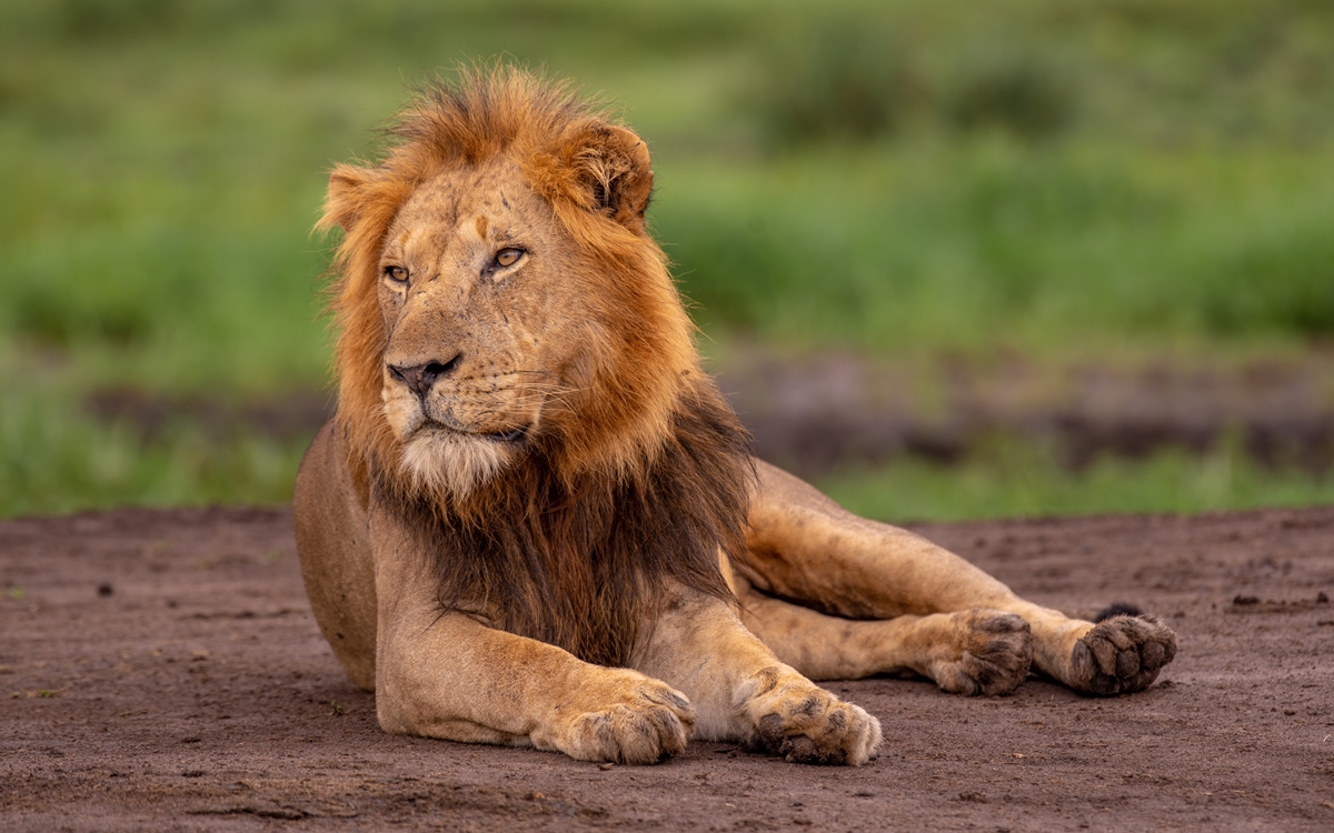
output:
[[[742,622],[812,680],[910,670],[955,694],[1009,694],[1033,662],[1029,624],[1002,610],[847,620],[755,590],[740,601]]]

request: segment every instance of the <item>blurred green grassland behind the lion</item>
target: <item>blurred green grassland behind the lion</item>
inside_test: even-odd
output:
[[[325,172],[494,56],[648,140],[724,372],[1277,363],[1334,396],[1327,0],[7,1],[0,514],[287,500],[327,401]],[[1334,498],[1301,462],[999,437],[819,484],[895,520]]]

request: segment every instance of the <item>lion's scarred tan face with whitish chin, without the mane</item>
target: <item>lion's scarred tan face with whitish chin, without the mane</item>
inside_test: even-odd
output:
[[[466,494],[578,397],[590,269],[512,161],[422,184],[380,256],[386,418],[403,465]]]

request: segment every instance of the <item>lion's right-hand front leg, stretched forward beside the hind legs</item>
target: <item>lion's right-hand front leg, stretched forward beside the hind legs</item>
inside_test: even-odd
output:
[[[704,740],[740,740],[788,761],[852,766],[880,746],[875,717],[780,662],[715,598],[682,590],[634,665],[686,692]]]

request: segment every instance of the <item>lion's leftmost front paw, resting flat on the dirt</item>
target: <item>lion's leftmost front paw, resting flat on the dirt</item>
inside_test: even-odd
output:
[[[684,750],[695,726],[690,700],[651,677],[616,673],[638,680],[631,677],[631,685],[611,696],[579,696],[578,702],[560,706],[566,714],[558,714],[551,737],[535,734],[534,742],[582,761],[615,764],[654,764]]]

